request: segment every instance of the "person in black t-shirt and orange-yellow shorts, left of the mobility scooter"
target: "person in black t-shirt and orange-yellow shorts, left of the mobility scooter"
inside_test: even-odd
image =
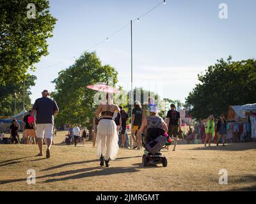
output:
[[[136,137],[134,136],[136,131],[140,129],[141,123],[142,123],[142,115],[143,110],[141,108],[140,101],[134,102],[134,108],[132,109],[132,130],[131,130],[131,137],[133,140],[133,149],[140,149],[142,147],[141,144],[141,138],[139,135],[136,134]]]

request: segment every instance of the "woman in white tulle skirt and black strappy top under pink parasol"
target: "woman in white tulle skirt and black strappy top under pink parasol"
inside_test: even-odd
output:
[[[115,112],[120,112],[117,105],[107,103],[100,104],[95,115],[100,122],[97,128],[97,157],[100,158],[100,166],[109,167],[109,160],[116,159],[118,153],[118,133],[116,131],[116,124],[113,120]]]

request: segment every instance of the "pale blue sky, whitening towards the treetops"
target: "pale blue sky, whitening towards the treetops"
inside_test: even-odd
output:
[[[49,55],[36,64],[31,101],[44,89],[54,91],[52,80],[74,64],[84,51],[95,51],[102,64],[118,71],[118,84],[131,85],[131,30],[129,22],[161,0],[51,0],[58,18],[49,43]],[[221,19],[221,3],[227,18]],[[217,59],[256,58],[256,1],[166,0],[166,4],[132,22],[133,85],[159,92],[161,98],[184,102]],[[95,46],[118,29],[120,32]],[[74,58],[75,57],[75,58]]]

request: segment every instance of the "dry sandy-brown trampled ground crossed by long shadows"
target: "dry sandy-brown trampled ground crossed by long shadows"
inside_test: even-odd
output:
[[[58,133],[50,159],[35,157],[36,145],[0,145],[0,191],[256,190],[256,143],[178,145],[175,152],[163,150],[166,168],[143,167],[143,150],[120,149],[111,168],[101,168],[92,143],[60,145],[64,134]],[[36,184],[27,184],[28,169],[35,170]],[[227,185],[219,184],[221,169],[228,171]]]

